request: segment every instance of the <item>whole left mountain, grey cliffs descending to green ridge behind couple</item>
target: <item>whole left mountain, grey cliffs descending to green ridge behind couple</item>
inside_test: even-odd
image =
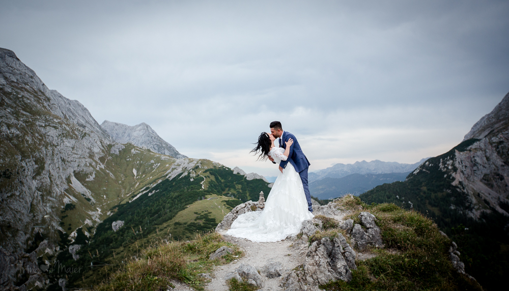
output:
[[[0,289],[61,289],[78,278],[86,284],[103,272],[58,272],[56,263],[94,266],[115,257],[113,246],[129,256],[138,242],[131,230],[142,226],[143,235],[159,234],[164,224],[182,238],[212,229],[204,210],[185,227],[168,223],[207,195],[235,206],[270,190],[212,161],[156,153],[149,148],[157,134],[139,130],[153,143],[116,142],[82,104],[49,90],[0,48]]]

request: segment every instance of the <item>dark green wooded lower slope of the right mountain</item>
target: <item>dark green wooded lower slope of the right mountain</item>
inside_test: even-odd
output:
[[[359,197],[367,204],[394,203],[419,211],[433,219],[438,227],[456,241],[467,273],[486,289],[496,289],[509,276],[509,218],[492,211],[474,220],[465,215],[473,205],[453,177],[444,175],[440,161],[452,160],[455,150],[464,151],[476,140],[467,140],[449,152],[430,158],[424,170],[409,175],[405,182],[384,184]],[[452,166],[454,167],[454,165]],[[454,169],[453,169],[454,170]],[[475,197],[474,197],[475,198]],[[483,207],[489,203],[477,201]]]

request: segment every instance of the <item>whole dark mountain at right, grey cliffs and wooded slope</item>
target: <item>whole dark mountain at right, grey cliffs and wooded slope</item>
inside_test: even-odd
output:
[[[413,207],[457,235],[469,257],[465,270],[488,289],[509,275],[508,117],[509,94],[458,146],[427,160],[406,181],[360,195],[367,203]]]

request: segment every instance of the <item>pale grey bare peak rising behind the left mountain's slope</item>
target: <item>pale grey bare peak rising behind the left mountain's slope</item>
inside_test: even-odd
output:
[[[177,151],[171,144],[164,141],[147,123],[129,126],[122,123],[104,120],[101,127],[120,144],[131,143],[135,146],[146,147],[153,152],[169,155],[175,158],[187,157]]]

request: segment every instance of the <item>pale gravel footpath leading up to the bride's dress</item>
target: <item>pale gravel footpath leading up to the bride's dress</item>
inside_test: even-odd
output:
[[[244,257],[229,264],[216,267],[211,274],[213,277],[212,281],[205,288],[208,291],[228,290],[224,277],[234,272],[241,263],[250,264],[260,269],[271,260],[282,264],[282,276],[272,279],[262,276],[264,287],[260,290],[282,290],[280,286],[281,278],[289,274],[295,267],[304,263],[305,252],[307,251],[307,244],[302,244],[302,240],[295,238],[275,243],[253,243],[230,235],[224,235],[224,239],[227,242],[238,245],[244,252]]]

